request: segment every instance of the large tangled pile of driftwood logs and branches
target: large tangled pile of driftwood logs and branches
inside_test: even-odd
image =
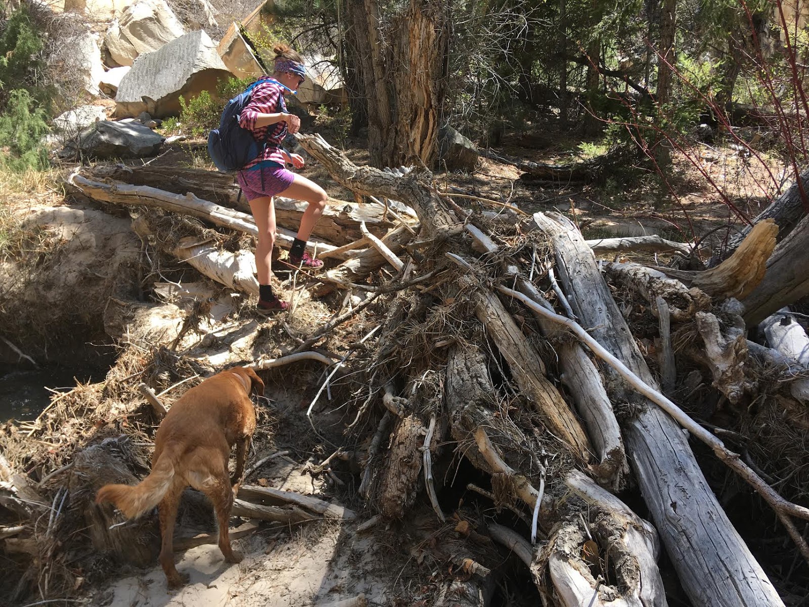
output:
[[[693,605],[784,605],[709,487],[693,445],[705,445],[769,504],[807,561],[809,508],[778,495],[747,453],[681,408],[688,409],[698,371],[728,406],[775,397],[761,385],[777,385],[779,402],[798,412],[794,425],[807,427],[800,411],[809,404],[809,340],[785,308],[791,302],[761,323],[762,343],[748,341],[745,303],[760,297],[769,260],[789,240],[777,244],[772,219],[709,270],[599,262],[594,252],[700,252],[656,236],[587,241],[560,214],[528,216],[482,200],[460,206],[464,197],[439,191],[425,170],[356,166],[318,136],[298,138],[358,201],[330,202],[311,245],[329,268],[297,278],[313,296],[339,292],[332,301],[340,309],[256,367],[303,356],[333,365],[328,378],[357,371],[345,437],[364,452],[358,491],[375,515],[368,525],[406,518],[419,500],[447,519],[455,504],[443,503],[441,492],[462,457],[490,478],[490,491],[475,490],[524,521],[517,530],[489,521],[487,530],[523,559],[545,605],[667,605],[662,547]],[[70,185],[95,201],[156,206],[256,234],[227,176],[118,167],[76,173]],[[303,208],[282,198],[276,208],[286,247]],[[163,253],[257,294],[252,253],[203,240],[178,236]],[[318,349],[361,312],[377,315],[366,324],[366,343],[349,349],[366,352],[361,363]],[[628,319],[638,318],[646,325],[630,328]],[[0,499],[17,495],[24,507],[24,482],[11,471],[6,477],[11,494]],[[649,521],[616,497],[632,486]],[[243,487],[234,513],[295,522],[355,516],[278,493]],[[492,572],[477,571],[453,605],[486,605]]]

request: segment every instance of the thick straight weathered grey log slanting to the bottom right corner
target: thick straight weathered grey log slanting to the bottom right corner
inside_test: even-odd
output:
[[[646,384],[654,386],[629,327],[601,278],[591,249],[561,215],[535,214],[553,242],[561,281],[591,335]],[[610,376],[615,372],[607,369]],[[688,440],[652,402],[618,382],[612,398],[637,404],[625,420],[629,461],[685,591],[695,605],[783,605],[765,572],[709,489]]]

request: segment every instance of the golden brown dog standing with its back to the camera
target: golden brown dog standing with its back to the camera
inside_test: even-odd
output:
[[[188,575],[178,573],[172,550],[180,494],[187,486],[200,490],[214,503],[219,550],[225,560],[241,560],[231,550],[227,523],[256,430],[251,392],[263,394],[264,382],[256,371],[246,367],[232,367],[189,389],[160,423],[149,476],[136,486],[105,485],[95,496],[95,503],[112,502],[129,519],[158,506],[163,537],[159,560],[169,588],[180,588],[188,582]],[[236,469],[229,479],[227,461],[234,444]]]

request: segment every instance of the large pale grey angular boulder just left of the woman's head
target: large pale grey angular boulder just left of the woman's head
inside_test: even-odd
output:
[[[156,118],[176,116],[180,96],[188,101],[201,91],[215,91],[219,80],[230,77],[204,30],[185,34],[138,57],[118,87],[116,117],[135,117],[141,112]]]

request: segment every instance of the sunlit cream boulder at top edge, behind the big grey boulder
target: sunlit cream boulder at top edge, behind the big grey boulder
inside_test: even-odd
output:
[[[131,66],[135,57],[151,53],[185,33],[165,0],[137,0],[120,19],[113,19],[104,38],[112,60]]]

